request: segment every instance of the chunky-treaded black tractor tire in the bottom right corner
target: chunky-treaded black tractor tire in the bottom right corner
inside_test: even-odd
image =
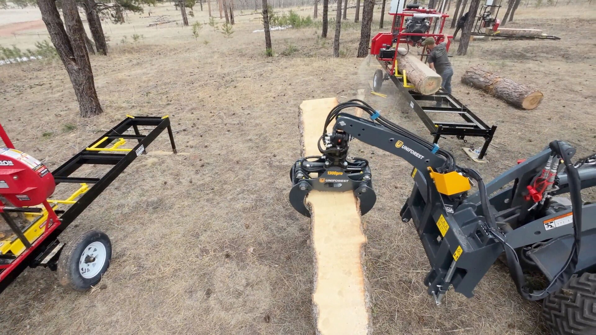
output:
[[[596,274],[574,276],[546,297],[542,318],[552,335],[596,334]]]

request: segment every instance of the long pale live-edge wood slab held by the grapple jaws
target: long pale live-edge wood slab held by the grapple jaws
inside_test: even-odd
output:
[[[320,155],[317,142],[336,98],[300,104],[302,155]],[[333,126],[331,123],[330,127]],[[370,296],[364,266],[364,235],[358,200],[352,192],[311,191],[311,246],[315,263],[313,317],[316,334],[370,333]]]

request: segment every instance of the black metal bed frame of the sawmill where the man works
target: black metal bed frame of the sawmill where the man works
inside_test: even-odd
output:
[[[433,143],[437,144],[441,136],[455,136],[457,139],[465,141],[465,137],[482,137],[485,139],[482,149],[478,154],[478,159],[482,160],[491,144],[493,135],[496,131],[496,126],[488,126],[480,117],[472,113],[470,109],[464,106],[453,95],[445,92],[442,88],[434,94],[423,95],[413,91],[403,84],[403,76],[392,76],[389,72],[389,64],[387,61],[378,60],[383,66],[385,76],[383,79],[391,79],[402,97],[407,101],[418,117],[422,120],[426,128],[429,129],[430,134],[433,135]],[[406,79],[407,80],[407,79]],[[426,107],[421,106],[421,101],[434,101],[447,104],[448,107]],[[429,113],[436,114],[458,114],[463,119],[462,122],[446,122],[435,121]]]

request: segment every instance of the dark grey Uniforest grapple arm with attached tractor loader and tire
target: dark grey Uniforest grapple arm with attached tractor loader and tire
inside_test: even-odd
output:
[[[370,120],[342,113],[353,107]],[[290,203],[298,212],[309,215],[311,190],[353,191],[361,213],[371,210],[371,168],[365,159],[350,158],[352,139],[413,166],[401,222],[412,221],[418,232],[431,266],[424,283],[437,305],[450,287],[472,297],[501,256],[520,296],[544,299],[544,320],[554,334],[596,333],[596,204],[581,197],[582,189],[596,185],[596,153],[572,162],[575,149],[552,141],[485,185],[476,170],[458,166],[437,144],[350,100],[330,111],[319,139],[322,156],[304,157],[291,168]],[[470,194],[473,182],[478,191]],[[541,273],[548,284],[531,287],[526,272]]]

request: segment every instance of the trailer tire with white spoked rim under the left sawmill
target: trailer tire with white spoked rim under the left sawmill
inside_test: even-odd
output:
[[[99,283],[110,266],[111,242],[100,230],[91,230],[67,244],[58,260],[58,281],[69,290],[84,292]]]

